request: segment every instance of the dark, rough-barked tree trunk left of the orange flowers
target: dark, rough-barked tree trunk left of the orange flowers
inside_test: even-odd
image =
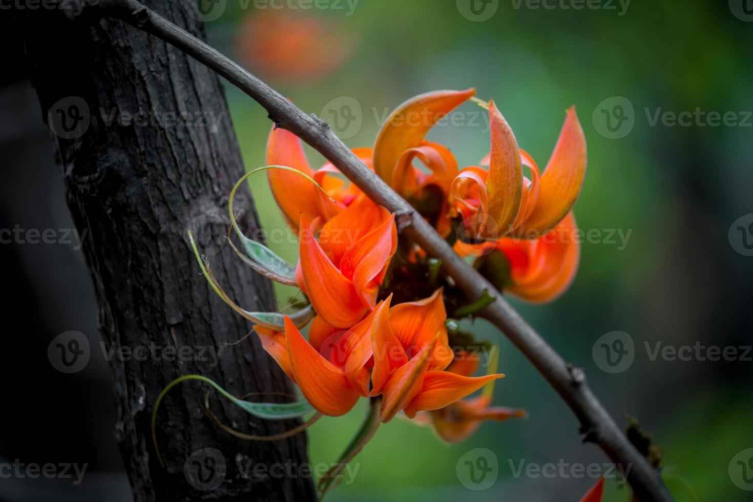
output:
[[[200,21],[187,11],[191,2],[145,4],[203,37]],[[69,208],[79,232],[87,231],[83,250],[99,299],[104,347],[115,349],[110,366],[117,440],[135,499],[315,498],[310,479],[243,472],[256,464],[306,462],[305,436],[244,442],[225,434],[203,413],[200,383],[181,384],[160,408],[157,439],[166,467],[152,446],[154,402],[178,376],[209,376],[233,394],[290,392],[256,336],[225,346],[216,365],[209,352],[242,339],[250,327],[200,274],[185,239],[189,228],[215,224],[215,239],[203,251],[230,297],[246,309],[275,306],[270,283],[222,245],[227,195],[243,168],[220,81],[163,41],[116,20],[81,22],[44,9],[16,14],[42,116],[55,133]],[[181,113],[191,124],[181,123]],[[212,120],[202,125],[207,117],[218,120],[216,131]],[[242,227],[254,229],[248,190],[237,205],[249,209]],[[182,347],[183,353],[118,355],[121,347],[149,351],[151,344]],[[98,341],[90,345],[99,351]],[[294,426],[252,418],[215,397],[212,409],[224,423],[251,434]]]

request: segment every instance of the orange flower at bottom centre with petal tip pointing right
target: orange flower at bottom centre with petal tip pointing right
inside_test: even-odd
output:
[[[389,308],[388,298],[374,310],[371,395],[383,394],[380,419],[403,410],[441,409],[504,375],[472,378],[444,371],[453,358],[447,343],[441,290],[431,297]]]

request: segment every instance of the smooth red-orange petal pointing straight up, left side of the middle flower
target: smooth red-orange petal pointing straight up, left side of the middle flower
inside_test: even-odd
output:
[[[335,268],[309,228],[306,216],[300,217],[300,270],[306,294],[316,313],[329,324],[348,328],[361,320],[366,307],[355,293],[353,283]]]

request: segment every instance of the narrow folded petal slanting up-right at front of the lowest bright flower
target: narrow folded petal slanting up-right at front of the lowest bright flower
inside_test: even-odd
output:
[[[436,342],[436,339],[434,339],[434,342]],[[418,354],[395,370],[395,373],[392,373],[392,376],[389,377],[384,385],[384,397],[380,409],[380,420],[383,423],[392,420],[421,391],[430,360],[428,354],[431,354],[431,351],[434,350],[434,342],[425,345]],[[415,416],[415,413],[413,416]]]

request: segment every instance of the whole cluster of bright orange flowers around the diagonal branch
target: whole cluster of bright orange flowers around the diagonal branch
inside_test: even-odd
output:
[[[491,151],[480,164],[488,169],[459,169],[451,151],[425,135],[473,95],[440,91],[410,99],[389,117],[373,149],[353,153],[413,202],[459,254],[476,257],[477,268],[501,289],[532,302],[553,300],[569,286],[579,259],[575,239],[545,239],[555,229],[575,230],[571,208],[586,163],[575,111],[568,111],[541,175],[494,102],[482,102]],[[423,120],[406,120],[411,116]],[[398,239],[394,214],[333,165],[312,170],[300,139],[284,129],[270,133],[267,163],[287,168],[267,174],[299,237],[294,284],[316,317],[308,339],[300,333],[306,323],[287,316],[281,326],[263,323],[255,330],[313,408],[338,416],[359,397],[379,396],[381,421],[398,412],[408,418],[427,412],[416,421],[433,424],[450,442],[468,437],[484,419],[523,415],[491,406],[493,382],[503,375],[491,368],[474,376],[479,361],[468,347],[477,342],[447,315],[448,309],[462,312],[462,296],[441,275],[441,263],[404,236]],[[462,400],[481,388],[480,397]]]

